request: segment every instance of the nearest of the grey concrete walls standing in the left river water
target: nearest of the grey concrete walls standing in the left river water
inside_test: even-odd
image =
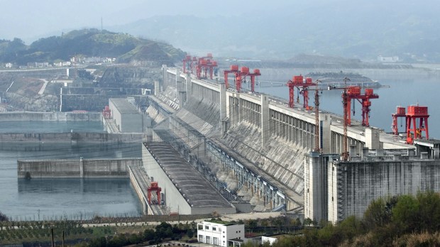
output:
[[[129,177],[128,166],[141,158],[79,160],[17,160],[18,178]]]

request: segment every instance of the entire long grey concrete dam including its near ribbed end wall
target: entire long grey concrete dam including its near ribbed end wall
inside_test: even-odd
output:
[[[176,68],[163,66],[163,81],[155,83],[147,113],[151,141],[171,143],[230,202],[248,202],[255,211],[285,209],[336,222],[362,216],[380,196],[440,190],[438,141],[409,145],[352,120],[350,160],[342,162],[341,116],[319,111],[315,133],[313,111],[290,108],[266,94],[226,89],[224,83]],[[321,153],[312,152],[315,136]],[[395,187],[382,186],[387,181],[395,181]]]

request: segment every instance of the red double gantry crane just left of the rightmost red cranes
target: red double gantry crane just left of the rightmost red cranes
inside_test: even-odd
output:
[[[342,95],[344,97],[344,95]],[[346,104],[344,105],[344,116],[347,116],[346,123],[348,126],[351,125],[351,100],[357,99],[362,105],[362,125],[370,126],[369,114],[370,114],[370,99],[378,99],[379,95],[373,92],[373,89],[366,88],[364,94],[361,94],[361,87],[358,86],[348,86],[346,88]],[[353,111],[354,114],[354,111]]]

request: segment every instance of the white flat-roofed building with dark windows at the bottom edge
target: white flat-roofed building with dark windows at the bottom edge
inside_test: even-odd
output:
[[[203,221],[197,224],[199,243],[209,243],[214,246],[228,246],[231,239],[245,240],[244,224],[232,224],[226,221]]]

